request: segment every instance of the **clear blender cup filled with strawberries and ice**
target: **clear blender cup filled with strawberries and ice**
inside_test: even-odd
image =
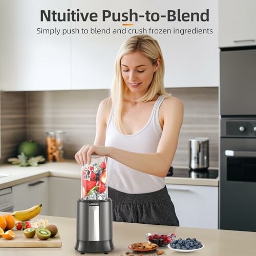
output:
[[[93,154],[91,163],[82,166],[81,199],[106,200],[107,198],[105,157]]]

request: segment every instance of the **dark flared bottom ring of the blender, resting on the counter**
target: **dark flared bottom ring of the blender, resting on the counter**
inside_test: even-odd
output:
[[[106,241],[76,241],[75,250],[79,252],[108,252],[114,249],[112,239]]]

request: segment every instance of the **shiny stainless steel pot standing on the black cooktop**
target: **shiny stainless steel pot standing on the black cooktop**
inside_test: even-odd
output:
[[[209,167],[209,139],[195,138],[189,140],[189,168],[207,169]]]

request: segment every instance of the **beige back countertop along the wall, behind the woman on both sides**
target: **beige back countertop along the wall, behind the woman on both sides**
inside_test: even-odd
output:
[[[30,182],[36,179],[54,176],[62,178],[80,179],[80,165],[75,160],[65,160],[63,162],[53,162],[40,164],[39,166],[20,167],[12,164],[0,165],[0,176],[9,175],[0,178],[0,189],[15,186],[25,182]],[[179,185],[201,185],[201,186],[218,186],[219,178],[217,179],[191,179],[179,177],[166,177],[166,184]]]

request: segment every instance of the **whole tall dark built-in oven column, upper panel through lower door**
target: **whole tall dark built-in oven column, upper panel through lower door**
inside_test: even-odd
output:
[[[219,228],[256,231],[256,46],[220,61]]]

